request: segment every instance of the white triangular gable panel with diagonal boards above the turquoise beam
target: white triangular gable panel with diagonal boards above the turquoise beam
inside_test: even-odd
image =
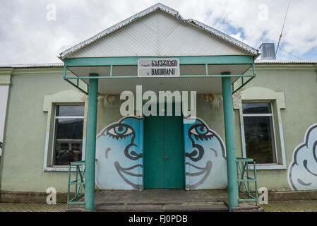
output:
[[[155,11],[128,26],[78,49],[67,58],[171,57],[249,55],[193,23]]]

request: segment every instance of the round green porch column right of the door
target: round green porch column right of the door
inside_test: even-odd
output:
[[[223,75],[229,75],[229,72],[223,72]],[[225,118],[225,136],[227,153],[227,174],[228,174],[228,193],[229,193],[229,211],[232,207],[239,206],[238,198],[238,172],[236,143],[234,139],[234,112],[232,105],[232,84],[231,77],[222,78],[223,111]]]

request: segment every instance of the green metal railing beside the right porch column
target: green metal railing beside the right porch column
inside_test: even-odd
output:
[[[249,164],[253,164],[253,172],[254,176],[250,177],[249,174]],[[248,196],[248,198],[239,198],[239,202],[256,202],[256,205],[258,205],[258,184],[256,182],[256,161],[251,158],[242,158],[237,157],[237,167],[238,167],[238,186],[239,191],[242,194],[245,194]],[[245,175],[246,173],[246,175]],[[250,182],[254,182],[256,194],[255,196],[251,195],[250,192]]]

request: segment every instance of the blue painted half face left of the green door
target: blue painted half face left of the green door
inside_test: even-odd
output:
[[[143,119],[127,117],[97,135],[96,183],[100,189],[143,189]]]

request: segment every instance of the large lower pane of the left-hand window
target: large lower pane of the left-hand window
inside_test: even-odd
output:
[[[56,119],[54,165],[80,161],[83,144],[83,119]]]

